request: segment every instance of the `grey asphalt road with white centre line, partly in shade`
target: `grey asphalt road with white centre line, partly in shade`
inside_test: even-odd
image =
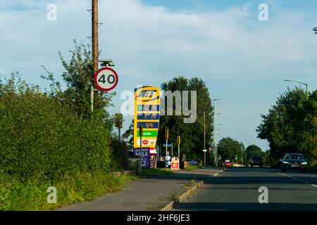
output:
[[[231,167],[202,178],[199,188],[173,210],[317,210],[317,174],[279,169]],[[259,203],[259,188],[268,188],[268,203]]]

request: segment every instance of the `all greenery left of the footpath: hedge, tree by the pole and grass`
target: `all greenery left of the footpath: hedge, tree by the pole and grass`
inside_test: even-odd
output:
[[[60,53],[66,91],[44,67],[49,92],[18,74],[0,77],[0,210],[51,210],[122,188],[125,178],[111,175],[121,160],[111,153],[113,118],[106,108],[113,94],[95,92],[90,113],[88,49],[75,42],[70,63]],[[57,205],[46,203],[49,186],[58,190]]]

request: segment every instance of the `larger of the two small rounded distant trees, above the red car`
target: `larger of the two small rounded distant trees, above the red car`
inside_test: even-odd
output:
[[[221,160],[235,161],[235,155],[237,155],[237,161],[241,159],[246,161],[246,150],[243,143],[236,141],[230,137],[223,138],[218,143],[218,155],[221,155]]]

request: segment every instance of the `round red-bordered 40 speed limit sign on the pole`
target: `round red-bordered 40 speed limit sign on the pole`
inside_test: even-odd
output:
[[[101,91],[111,91],[118,84],[118,75],[111,68],[101,68],[94,75],[94,84]]]

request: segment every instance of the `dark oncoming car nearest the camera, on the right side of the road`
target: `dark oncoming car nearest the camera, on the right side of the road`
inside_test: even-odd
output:
[[[282,171],[286,169],[302,169],[304,172],[307,171],[307,162],[302,154],[286,153],[280,161]]]

